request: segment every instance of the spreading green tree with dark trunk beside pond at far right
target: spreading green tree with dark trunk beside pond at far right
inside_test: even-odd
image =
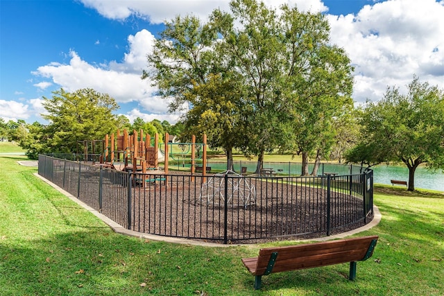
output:
[[[421,83],[418,77],[408,93],[388,87],[377,103],[362,113],[361,142],[347,155],[350,162],[402,162],[409,168],[409,191],[420,164],[444,168],[444,90]]]

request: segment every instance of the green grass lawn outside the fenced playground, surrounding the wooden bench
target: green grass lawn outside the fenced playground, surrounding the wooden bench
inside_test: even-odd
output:
[[[262,290],[241,258],[261,245],[199,247],[114,234],[85,209],[0,157],[0,295],[442,295],[444,195],[382,188],[373,257],[268,275]],[[268,243],[268,245],[287,245]],[[262,245],[264,246],[264,245]]]

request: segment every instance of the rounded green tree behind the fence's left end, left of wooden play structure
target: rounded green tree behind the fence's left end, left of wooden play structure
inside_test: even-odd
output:
[[[20,142],[22,148],[35,157],[38,153],[75,153],[80,140],[103,139],[105,134],[117,130],[118,109],[114,98],[93,89],[53,92],[44,97],[47,114],[42,117],[48,125],[30,126],[29,139]]]

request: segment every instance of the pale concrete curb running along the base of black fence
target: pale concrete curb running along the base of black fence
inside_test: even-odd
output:
[[[82,202],[81,200],[78,200],[78,198],[76,198],[74,195],[72,195],[71,193],[65,191],[64,189],[62,189],[61,187],[59,187],[56,184],[53,184],[53,182],[45,179],[44,177],[42,177],[41,175],[39,175],[38,173],[34,173],[34,175],[38,178],[40,178],[41,180],[43,180],[44,182],[46,182],[46,184],[51,185],[54,189],[56,189],[57,191],[59,191],[60,193],[62,193],[63,195],[66,195],[67,198],[69,198],[70,200],[76,202],[76,204],[80,205],[80,207],[83,207],[85,209],[87,209],[87,211],[90,211],[94,216],[96,216],[97,218],[101,219],[105,224],[107,224],[114,232],[118,233],[118,234],[124,234],[127,236],[135,236],[138,238],[144,238],[144,239],[148,239],[151,241],[164,241],[167,243],[180,243],[180,244],[184,244],[184,245],[200,245],[200,246],[205,246],[205,247],[232,247],[234,245],[223,245],[221,243],[207,243],[204,241],[192,241],[189,239],[185,239],[185,238],[171,238],[169,236],[157,236],[154,234],[144,234],[141,232],[135,232],[133,230],[129,230],[126,229],[125,227],[117,224],[116,222],[114,222],[113,220],[111,220],[110,218],[104,216],[103,214],[99,213],[99,211],[96,211],[95,209],[93,209],[92,207],[89,207],[89,205],[85,204],[85,202]],[[357,234],[359,232],[364,232],[372,227],[375,227],[379,221],[381,220],[382,216],[381,213],[379,212],[379,209],[373,205],[373,220],[362,226],[359,227],[357,229],[353,229],[350,230],[350,232],[343,232],[341,234],[335,234],[332,236],[325,236],[322,238],[310,238],[310,239],[306,239],[306,240],[300,240],[300,241],[296,241],[296,242],[309,242],[309,241],[330,241],[336,238],[344,238],[345,236],[351,236],[352,234]],[[237,246],[247,246],[247,244],[235,244]],[[253,244],[253,245],[258,245],[258,244]]]

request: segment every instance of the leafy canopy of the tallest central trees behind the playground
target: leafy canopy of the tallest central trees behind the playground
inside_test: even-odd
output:
[[[171,110],[188,106],[185,127],[216,129],[209,142],[228,156],[239,148],[262,161],[278,147],[308,154],[331,146],[332,119],[352,103],[352,67],[329,43],[327,19],[256,0],[230,8],[206,24],[194,16],[167,22],[142,78],[173,98]]]

